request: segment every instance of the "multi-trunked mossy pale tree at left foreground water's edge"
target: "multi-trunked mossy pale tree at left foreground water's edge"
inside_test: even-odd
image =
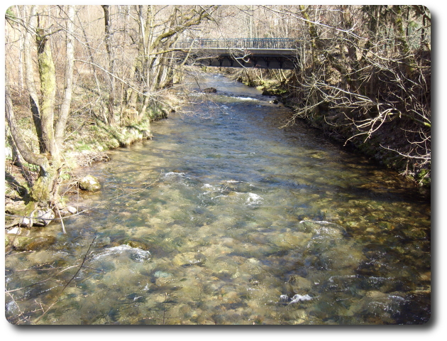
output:
[[[30,109],[37,134],[39,151],[33,151],[18,128],[16,115],[13,109],[12,95],[13,82],[9,72],[6,72],[5,109],[11,136],[23,159],[33,165],[39,166],[39,177],[31,189],[32,205],[28,213],[35,209],[37,204],[45,207],[54,206],[59,200],[59,175],[62,169],[61,147],[67,118],[70,112],[72,99],[73,64],[74,64],[74,6],[60,6],[61,19],[65,25],[55,29],[50,24],[50,11],[38,11],[38,6],[31,6],[28,15],[20,19],[6,13],[10,23],[18,23],[24,33],[24,55],[26,70],[26,87],[30,99]],[[65,32],[65,70],[62,101],[59,109],[56,100],[56,69],[53,60],[52,38],[60,31]],[[35,44],[31,44],[31,39]],[[35,70],[31,55],[35,53],[38,65],[39,87],[34,82]],[[39,89],[39,91],[37,90]]]

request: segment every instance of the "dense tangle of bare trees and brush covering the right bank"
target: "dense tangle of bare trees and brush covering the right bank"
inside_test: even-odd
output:
[[[431,163],[430,14],[424,6],[299,6],[272,13],[306,28],[309,54],[289,86],[295,113],[375,148],[404,174],[429,176]],[[312,16],[313,13],[313,16]]]

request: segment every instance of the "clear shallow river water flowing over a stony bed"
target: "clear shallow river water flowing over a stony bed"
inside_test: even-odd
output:
[[[38,323],[426,323],[429,199],[319,131],[279,129],[288,109],[258,90],[209,86],[215,104],[88,170],[103,188],[79,210],[106,204],[6,257],[6,318],[56,302]]]

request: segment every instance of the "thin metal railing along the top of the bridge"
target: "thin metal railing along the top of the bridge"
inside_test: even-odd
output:
[[[178,41],[177,48],[295,49],[298,47],[299,43],[300,41],[294,38],[190,39]]]

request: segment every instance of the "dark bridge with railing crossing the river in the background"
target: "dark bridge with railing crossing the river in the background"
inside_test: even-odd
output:
[[[191,39],[177,42],[175,50],[191,53],[205,66],[294,69],[300,43],[293,38]]]

